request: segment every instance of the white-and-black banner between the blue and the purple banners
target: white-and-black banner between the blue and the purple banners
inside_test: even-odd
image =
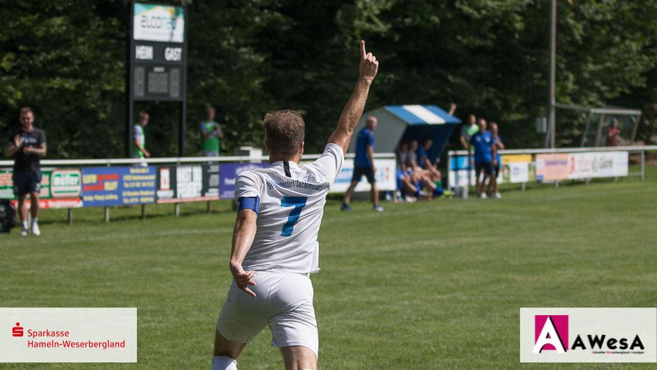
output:
[[[157,203],[219,199],[219,171],[219,164],[159,167]]]

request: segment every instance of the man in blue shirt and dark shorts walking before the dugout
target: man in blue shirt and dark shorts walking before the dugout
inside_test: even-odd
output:
[[[361,177],[365,175],[368,182],[372,185],[372,203],[374,203],[374,210],[378,212],[383,211],[383,207],[378,204],[378,189],[376,188],[376,180],[374,173],[374,130],[376,130],[376,117],[369,116],[365,121],[365,127],[358,133],[356,139],[356,158],[354,158],[354,175],[351,178],[351,184],[344,194],[344,201],[342,203],[342,210],[351,210],[349,203],[351,195],[354,193],[354,188],[361,181]]]

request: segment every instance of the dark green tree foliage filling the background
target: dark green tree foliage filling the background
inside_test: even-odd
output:
[[[178,2],[181,3],[181,2]],[[543,0],[194,0],[189,7],[188,154],[200,152],[203,107],[216,106],[229,151],[261,146],[261,119],[283,108],[307,121],[319,151],[357,77],[358,41],[381,61],[368,109],[459,105],[501,124],[511,147],[536,147],[548,103],[550,9]],[[0,8],[0,130],[36,110],[49,158],[123,155],[129,1],[18,0]],[[557,101],[641,108],[656,134],[657,3],[558,1]],[[151,113],[155,156],[177,153],[178,107]],[[575,125],[560,121],[571,143]]]

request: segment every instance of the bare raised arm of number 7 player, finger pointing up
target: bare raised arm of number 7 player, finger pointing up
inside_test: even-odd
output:
[[[370,85],[374,77],[376,77],[376,71],[378,71],[376,57],[372,53],[365,51],[365,41],[361,41],[361,62],[359,64],[358,81],[356,82],[353,93],[351,93],[349,101],[347,101],[346,106],[342,110],[342,114],[340,114],[340,118],[337,121],[337,128],[329,138],[329,143],[339,145],[345,153],[349,147],[354,129],[363,114],[365,101],[368,100]]]

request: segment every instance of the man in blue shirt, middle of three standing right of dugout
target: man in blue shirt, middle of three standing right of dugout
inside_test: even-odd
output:
[[[479,131],[470,138],[470,145],[474,147],[477,196],[480,198],[486,197],[484,183],[488,177],[495,177],[494,167],[498,161],[495,153],[495,139],[486,128],[486,120],[479,119]]]

